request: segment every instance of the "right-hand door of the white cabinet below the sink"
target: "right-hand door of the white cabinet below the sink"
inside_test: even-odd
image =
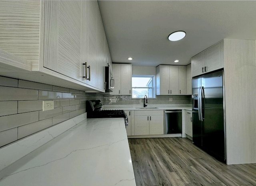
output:
[[[149,134],[150,135],[164,134],[164,116],[163,115],[149,116]]]

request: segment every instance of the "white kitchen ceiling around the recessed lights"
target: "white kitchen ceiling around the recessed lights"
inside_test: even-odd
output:
[[[256,1],[98,1],[112,61],[187,65],[224,38],[256,40]],[[186,37],[170,42],[168,35]],[[133,57],[129,61],[127,58]],[[180,62],[174,63],[178,59]]]

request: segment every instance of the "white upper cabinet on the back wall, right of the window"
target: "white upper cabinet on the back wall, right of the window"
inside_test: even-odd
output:
[[[156,67],[156,95],[186,94],[186,66]]]

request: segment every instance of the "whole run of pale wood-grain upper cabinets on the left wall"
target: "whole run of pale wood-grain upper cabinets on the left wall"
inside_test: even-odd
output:
[[[1,1],[0,11],[0,75],[104,92],[112,62],[97,1]]]

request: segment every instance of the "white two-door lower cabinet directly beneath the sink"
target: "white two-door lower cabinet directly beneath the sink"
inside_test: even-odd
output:
[[[164,134],[164,116],[162,110],[135,111],[135,135]]]

